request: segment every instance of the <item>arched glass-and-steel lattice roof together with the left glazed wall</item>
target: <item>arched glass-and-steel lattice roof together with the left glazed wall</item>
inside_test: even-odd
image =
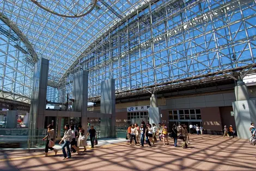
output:
[[[63,11],[66,9],[71,14],[83,13],[81,9],[85,9],[84,7],[91,1],[84,0],[78,3],[78,1],[65,0],[51,3],[40,0],[40,2],[49,3],[51,10],[66,14]],[[83,2],[86,4],[82,4]],[[77,56],[117,23],[122,18],[120,16],[130,14],[145,3],[148,1],[98,1],[96,8],[89,15],[65,18],[51,14],[28,0],[0,0],[0,14],[4,16],[2,19],[8,20],[4,23],[0,21],[2,31],[5,31],[1,31],[0,34],[1,97],[30,103],[32,66],[38,58],[46,58],[50,60],[48,85],[55,87],[53,94],[51,94],[53,91],[48,91],[47,98],[58,101],[54,94],[58,93],[56,87],[59,85],[59,79]],[[17,40],[12,39],[12,34]],[[28,59],[31,61],[27,61]]]

